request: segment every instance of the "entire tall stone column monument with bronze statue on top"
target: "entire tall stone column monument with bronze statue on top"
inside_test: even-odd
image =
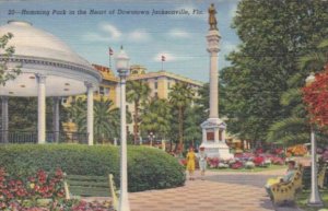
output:
[[[208,51],[210,54],[210,116],[201,124],[202,143],[200,148],[204,148],[209,157],[232,159],[233,154],[230,153],[225,143],[226,125],[219,118],[218,54],[221,36],[216,26],[215,14],[216,10],[212,3],[209,8],[210,28],[207,35]]]

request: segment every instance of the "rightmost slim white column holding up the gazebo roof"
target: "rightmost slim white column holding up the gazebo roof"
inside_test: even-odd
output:
[[[87,145],[93,145],[93,84],[85,82],[86,93],[87,93]]]

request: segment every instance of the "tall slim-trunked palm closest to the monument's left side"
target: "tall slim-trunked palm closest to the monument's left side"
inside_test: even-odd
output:
[[[184,143],[184,114],[186,108],[194,101],[194,91],[186,83],[176,83],[169,94],[169,103],[178,112],[178,131],[179,131],[179,146],[178,150],[181,152]]]

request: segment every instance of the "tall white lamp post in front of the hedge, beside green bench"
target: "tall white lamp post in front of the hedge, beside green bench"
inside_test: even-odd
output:
[[[119,211],[130,211],[128,199],[127,122],[126,122],[126,80],[129,73],[129,57],[120,47],[116,57],[116,69],[120,80],[120,200]]]

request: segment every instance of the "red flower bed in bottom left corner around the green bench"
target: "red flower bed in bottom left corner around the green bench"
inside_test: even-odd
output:
[[[38,171],[28,178],[13,178],[0,168],[0,210],[12,211],[108,211],[110,202],[66,200],[63,174]]]

